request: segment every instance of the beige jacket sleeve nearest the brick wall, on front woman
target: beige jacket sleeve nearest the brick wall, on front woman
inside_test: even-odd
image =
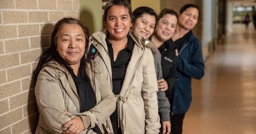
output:
[[[71,118],[66,115],[63,93],[55,70],[43,68],[37,77],[35,97],[41,117],[56,133],[62,133],[61,125]]]

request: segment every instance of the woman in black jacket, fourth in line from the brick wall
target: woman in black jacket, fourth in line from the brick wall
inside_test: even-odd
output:
[[[159,20],[154,34],[151,36],[152,42],[160,52],[160,59],[158,59],[158,61],[160,61],[162,67],[162,78],[158,80],[158,88],[160,88],[162,92],[166,90],[172,91],[173,84],[176,80],[174,71],[176,62],[173,62],[175,60],[170,60],[175,58],[176,51],[175,48],[166,43],[166,41],[174,35],[177,21],[178,14],[176,11],[163,9],[159,14]],[[164,50],[162,48],[164,48]],[[170,98],[170,95],[166,94],[166,97]],[[163,127],[165,126],[164,122],[162,125]],[[166,122],[166,126],[168,126],[168,132],[170,133],[170,122]]]

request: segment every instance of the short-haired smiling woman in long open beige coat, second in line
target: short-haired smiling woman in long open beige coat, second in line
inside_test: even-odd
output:
[[[94,60],[118,98],[117,109],[110,116],[114,133],[159,133],[154,58],[145,40],[130,31],[131,18],[127,1],[108,1],[103,18],[107,30],[90,36],[91,50],[97,50]]]

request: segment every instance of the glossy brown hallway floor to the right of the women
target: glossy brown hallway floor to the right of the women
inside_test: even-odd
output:
[[[234,25],[192,82],[184,134],[256,134],[256,31]]]

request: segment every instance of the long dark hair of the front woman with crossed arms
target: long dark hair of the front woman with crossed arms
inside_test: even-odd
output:
[[[57,52],[57,37],[59,35],[59,31],[63,28],[63,25],[66,25],[66,24],[77,24],[77,25],[80,25],[80,27],[82,27],[82,31],[84,32],[84,36],[85,36],[85,47],[86,47],[86,50],[88,50],[89,31],[87,27],[84,25],[84,23],[72,17],[65,17],[59,20],[53,29],[53,33],[51,34],[51,46],[45,52],[43,52],[43,54],[41,54],[41,56],[39,57],[39,62],[33,72],[34,82],[37,82],[37,76],[39,75],[40,70],[45,66],[45,64],[47,64],[47,62],[50,62],[51,60],[57,61],[59,64],[64,66],[68,70],[68,72],[70,72],[70,74],[74,74],[69,64],[65,60],[63,60],[63,58],[61,58],[61,56]],[[84,55],[81,58],[80,68],[78,71],[78,74],[82,75],[83,77],[86,77],[85,71],[81,71],[81,70],[85,70],[85,66],[84,66],[85,60],[86,59]]]

